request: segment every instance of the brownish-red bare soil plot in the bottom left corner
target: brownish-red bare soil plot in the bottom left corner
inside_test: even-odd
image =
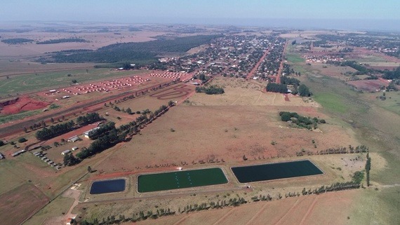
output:
[[[8,191],[0,195],[0,199],[1,224],[21,224],[50,200],[32,184]]]

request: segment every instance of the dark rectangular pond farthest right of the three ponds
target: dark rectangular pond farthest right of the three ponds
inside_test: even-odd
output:
[[[234,167],[232,172],[240,183],[324,174],[309,160]]]

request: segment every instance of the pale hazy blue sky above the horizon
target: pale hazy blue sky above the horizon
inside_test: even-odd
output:
[[[5,0],[0,22],[81,21],[400,30],[399,0]]]

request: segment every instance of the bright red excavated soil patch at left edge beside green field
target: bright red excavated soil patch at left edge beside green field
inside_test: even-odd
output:
[[[32,99],[27,95],[23,95],[14,104],[6,105],[1,110],[1,114],[18,114],[21,111],[44,109],[48,106],[48,104],[48,102],[40,102],[38,100]]]

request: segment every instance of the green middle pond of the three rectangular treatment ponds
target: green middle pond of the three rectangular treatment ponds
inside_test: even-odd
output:
[[[138,177],[138,192],[166,191],[196,186],[226,184],[228,182],[221,168],[202,170],[180,170],[154,173]]]

